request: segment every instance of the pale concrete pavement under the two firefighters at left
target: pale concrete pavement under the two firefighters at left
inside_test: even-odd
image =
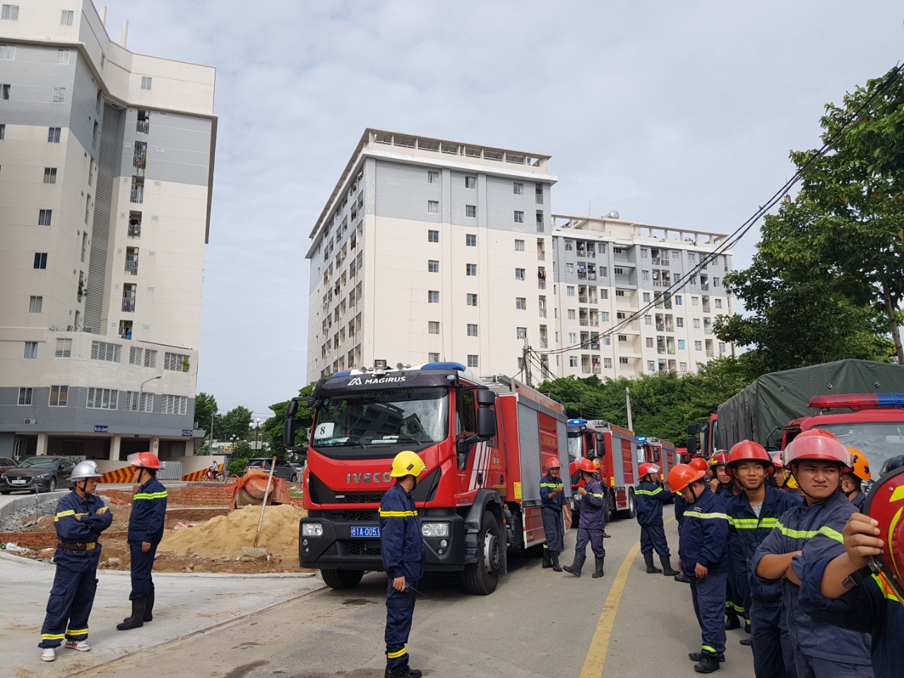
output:
[[[90,652],[57,649],[42,662],[38,643],[55,567],[0,552],[0,676],[70,676],[176,638],[209,631],[236,618],[324,588],[311,574],[221,575],[155,573],[154,621],[131,631],[116,625],[131,613],[128,572],[98,570],[89,619]]]

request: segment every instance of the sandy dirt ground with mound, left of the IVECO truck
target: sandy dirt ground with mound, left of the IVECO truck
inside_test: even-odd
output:
[[[108,504],[113,513],[114,529],[125,530],[130,505]],[[254,544],[260,506],[246,506],[227,515],[201,523],[170,524],[157,549],[154,570],[157,572],[221,572],[262,574],[275,572],[308,572],[298,566],[298,521],[305,515],[291,505],[268,506],[258,546],[266,549],[268,559],[258,560],[242,555],[242,547]],[[23,532],[53,532],[53,516],[32,517]],[[183,525],[184,526],[181,526]],[[130,558],[125,535],[102,536],[99,568],[129,570]],[[54,549],[42,551],[10,551],[32,560],[51,560]]]

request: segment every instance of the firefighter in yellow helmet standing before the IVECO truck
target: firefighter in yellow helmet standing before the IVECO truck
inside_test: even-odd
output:
[[[408,665],[408,636],[414,617],[414,585],[424,573],[424,540],[411,491],[418,485],[424,462],[411,450],[392,460],[395,485],[380,503],[380,541],[386,589],[386,678],[420,678]]]

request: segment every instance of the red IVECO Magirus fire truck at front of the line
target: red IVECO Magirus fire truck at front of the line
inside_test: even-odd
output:
[[[392,482],[392,457],[404,449],[427,466],[411,493],[426,570],[461,571],[469,592],[486,595],[506,573],[507,552],[544,541],[543,460],[568,463],[565,414],[554,400],[460,363],[391,370],[377,361],[321,379],[309,398],[291,400],[289,449],[297,449],[299,401],[314,410],[314,424],[298,557],[333,589],[351,589],[365,571],[382,570],[378,509]]]

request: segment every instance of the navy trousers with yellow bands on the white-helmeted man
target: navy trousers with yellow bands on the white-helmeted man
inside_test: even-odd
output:
[[[59,647],[88,637],[88,617],[98,590],[97,571],[75,572],[57,565],[38,647]]]

